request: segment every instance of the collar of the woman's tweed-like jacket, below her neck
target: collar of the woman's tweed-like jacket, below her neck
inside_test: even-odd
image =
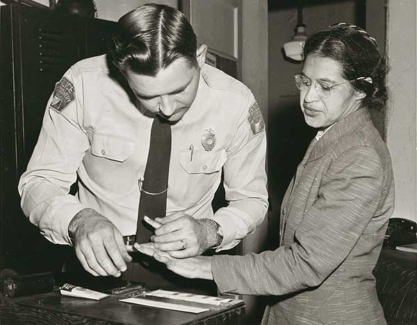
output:
[[[309,156],[309,162],[321,158],[343,135],[354,132],[364,124],[370,122],[368,108],[359,108],[344,119],[337,122],[318,140]]]

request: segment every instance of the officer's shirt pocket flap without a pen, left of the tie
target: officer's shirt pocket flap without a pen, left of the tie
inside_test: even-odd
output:
[[[133,155],[133,147],[133,140],[129,138],[95,134],[92,138],[91,153],[97,157],[123,162]]]

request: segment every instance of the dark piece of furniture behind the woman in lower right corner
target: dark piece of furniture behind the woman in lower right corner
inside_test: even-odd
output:
[[[382,249],[374,275],[386,322],[417,324],[417,253]]]

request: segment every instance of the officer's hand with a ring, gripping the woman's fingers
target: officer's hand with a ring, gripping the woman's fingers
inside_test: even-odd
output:
[[[195,219],[185,213],[173,213],[155,220],[145,217],[155,228],[155,248],[167,251],[174,258],[200,255],[217,241],[215,229],[207,219]]]

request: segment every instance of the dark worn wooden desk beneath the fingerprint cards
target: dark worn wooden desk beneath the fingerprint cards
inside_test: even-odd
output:
[[[112,295],[101,301],[63,297],[58,292],[19,298],[0,298],[0,323],[6,324],[111,324],[111,325],[185,325],[244,324],[245,304],[232,306],[190,306],[210,308],[199,314],[148,308],[120,302],[126,295]],[[172,302],[172,301],[171,301]]]

